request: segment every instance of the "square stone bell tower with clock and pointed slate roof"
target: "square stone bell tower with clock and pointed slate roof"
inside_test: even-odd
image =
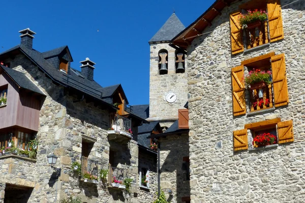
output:
[[[187,57],[169,46],[185,26],[173,13],[150,39],[149,118],[168,128],[188,101]]]

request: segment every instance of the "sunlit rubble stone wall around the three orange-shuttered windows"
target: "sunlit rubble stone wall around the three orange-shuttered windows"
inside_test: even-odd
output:
[[[188,48],[191,202],[303,202],[305,117],[305,5],[281,1],[284,40],[231,55],[229,14],[235,1]],[[255,56],[284,53],[289,105],[233,117],[231,69]],[[261,151],[233,152],[234,130],[247,123],[293,119],[294,142]],[[249,135],[249,147],[252,137]]]

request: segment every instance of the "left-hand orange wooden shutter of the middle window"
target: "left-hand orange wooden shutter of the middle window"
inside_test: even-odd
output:
[[[243,65],[233,67],[231,78],[233,115],[246,114],[245,84],[242,81]]]

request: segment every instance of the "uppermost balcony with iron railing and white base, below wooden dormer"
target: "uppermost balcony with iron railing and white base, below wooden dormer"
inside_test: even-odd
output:
[[[131,119],[115,114],[110,123],[111,128],[107,131],[108,140],[120,142],[132,139]]]

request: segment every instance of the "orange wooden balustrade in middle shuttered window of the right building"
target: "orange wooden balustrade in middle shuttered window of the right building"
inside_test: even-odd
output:
[[[259,97],[260,96],[259,89],[254,89],[254,90],[250,89],[249,91],[250,91],[250,100],[251,100],[251,112],[259,111],[263,109],[269,109],[273,107],[271,84],[261,90],[262,97]],[[261,106],[259,105],[260,102],[262,104]]]

